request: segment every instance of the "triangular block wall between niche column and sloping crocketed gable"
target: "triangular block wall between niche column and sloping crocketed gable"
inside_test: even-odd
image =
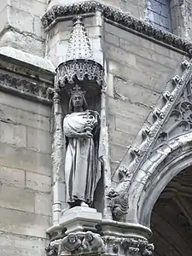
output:
[[[109,23],[103,51],[113,172],[186,56]]]

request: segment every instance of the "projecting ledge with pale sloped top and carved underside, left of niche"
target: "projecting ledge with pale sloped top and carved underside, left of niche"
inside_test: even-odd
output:
[[[35,102],[51,104],[55,68],[38,56],[11,47],[0,48],[0,90]]]

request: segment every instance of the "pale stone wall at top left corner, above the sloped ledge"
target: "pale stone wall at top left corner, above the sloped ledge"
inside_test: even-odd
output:
[[[0,47],[11,46],[44,56],[45,34],[41,16],[47,0],[3,0],[0,7]]]

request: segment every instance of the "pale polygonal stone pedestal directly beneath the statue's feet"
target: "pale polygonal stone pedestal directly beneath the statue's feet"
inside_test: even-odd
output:
[[[96,231],[96,224],[102,221],[102,213],[89,207],[73,207],[62,212],[60,226],[66,228],[66,234]]]

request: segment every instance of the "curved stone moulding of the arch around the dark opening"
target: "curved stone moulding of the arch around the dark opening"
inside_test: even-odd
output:
[[[131,183],[129,201],[132,218],[149,227],[154,203],[162,190],[177,173],[191,165],[192,132],[157,148],[148,160],[145,160]]]

